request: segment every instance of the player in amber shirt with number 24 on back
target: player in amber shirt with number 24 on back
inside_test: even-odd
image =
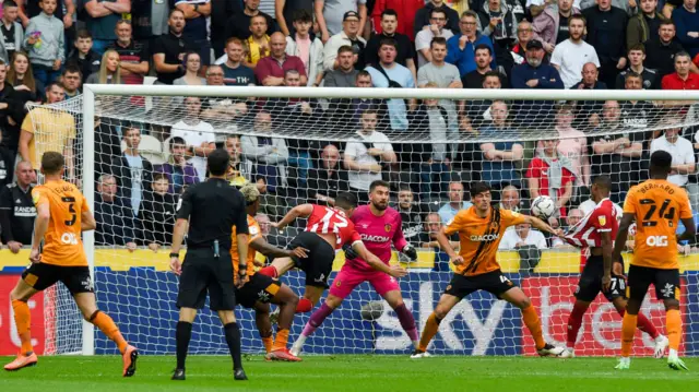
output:
[[[629,369],[633,333],[639,322],[639,310],[645,293],[652,284],[655,296],[662,299],[666,311],[666,330],[670,340],[667,366],[687,370],[677,351],[682,340],[682,316],[679,314],[679,264],[677,242],[695,240],[697,229],[692,219],[687,192],[667,181],[673,157],[665,151],[651,155],[650,179],[631,188],[624,201],[624,216],[614,243],[612,260],[619,260],[629,233],[636,221],[633,259],[629,266],[626,296],[626,313],[621,322],[621,358],[616,369]],[[677,236],[677,221],[682,219],[686,230]],[[611,288],[612,265],[604,265],[604,289]]]

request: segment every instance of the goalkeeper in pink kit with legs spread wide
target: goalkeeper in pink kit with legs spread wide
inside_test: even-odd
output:
[[[355,229],[362,236],[362,240],[367,249],[376,254],[382,262],[389,264],[391,260],[391,243],[412,260],[417,259],[417,251],[405,238],[403,238],[401,214],[389,207],[389,183],[377,180],[369,187],[369,204],[362,205],[352,215]],[[306,338],[312,334],[318,326],[342,305],[356,286],[363,282],[369,282],[374,289],[386,299],[393,308],[401,322],[401,326],[407,336],[417,347],[419,336],[415,326],[413,313],[405,307],[401,288],[395,277],[387,273],[377,271],[369,266],[366,261],[345,250],[346,262],[330,285],[330,295],[325,302],[316,310],[301,335],[298,336],[292,353],[298,355],[301,352]]]

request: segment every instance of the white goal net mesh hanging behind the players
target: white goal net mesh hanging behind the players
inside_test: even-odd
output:
[[[353,95],[347,92],[342,99],[98,95],[95,129],[90,130],[95,143],[87,146],[82,141],[86,130],[81,97],[31,108],[37,157],[56,149],[51,139],[57,132],[56,114],[68,114],[76,133],[64,138],[64,146],[74,151],[76,183],[82,185],[87,175],[82,170],[85,159],[94,159],[94,175],[87,178],[95,180],[97,302],[132,344],[146,354],[175,352],[178,281],[167,271],[175,204],[183,188],[205,178],[205,150],[214,144],[232,153],[233,181],[258,183],[262,192],[258,222],[266,240],[280,247],[301,231],[305,223],[299,221],[283,231],[268,223],[281,219],[294,205],[331,204],[343,190],[356,192],[366,202],[371,180],[389,180],[391,205],[402,213],[405,237],[420,248],[417,262],[405,264],[411,272],[400,284],[422,330],[452,275],[448,258],[435,248],[434,233],[467,205],[473,181],[489,182],[494,200],[506,209],[528,212],[536,194],[562,201],[552,223],[565,228],[591,209],[588,186],[597,175],[612,177],[612,200],[623,203],[630,186],[648,178],[651,149],[679,144],[653,142],[665,138],[664,131],[676,131],[689,143],[690,151],[683,157],[687,162],[682,164],[696,162],[694,146],[699,143],[699,121],[691,102],[638,102],[632,95],[629,100],[576,100],[576,92],[566,102],[511,100],[506,91],[502,100],[360,99]],[[54,116],[38,115],[39,108],[48,108]],[[140,158],[132,156],[135,152]],[[552,178],[541,163],[550,162],[545,156],[554,152],[561,175],[554,173]],[[683,170],[672,180],[688,190],[697,211],[695,173]],[[532,299],[546,340],[565,345],[580,251],[535,230],[512,229],[508,236],[498,253],[502,271]],[[523,252],[519,242],[540,247],[541,253]],[[678,251],[683,253],[685,318],[682,352],[697,355],[699,346],[692,336],[698,335],[694,329],[699,326],[695,316],[699,258],[691,247]],[[343,260],[340,253],[330,284]],[[394,254],[394,262],[405,261]],[[292,271],[282,281],[303,294],[303,272]],[[642,310],[662,332],[662,304],[650,297],[654,293]],[[80,351],[81,317],[70,295],[59,287],[45,301],[47,347],[57,354]],[[244,351],[263,352],[253,312],[236,312]],[[297,314],[291,336],[297,336],[307,321],[308,313]],[[585,314],[576,354],[617,354],[619,330],[614,307],[599,296]],[[652,354],[652,340],[642,338],[635,354]],[[305,352],[402,354],[411,347],[396,314],[363,283],[307,341]],[[116,353],[99,332],[95,349]],[[430,349],[437,354],[535,354],[520,311],[485,292],[472,294],[449,313]],[[190,353],[227,353],[215,313],[204,310],[198,317]]]

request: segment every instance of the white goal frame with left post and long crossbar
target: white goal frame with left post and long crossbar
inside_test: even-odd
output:
[[[269,87],[269,86],[173,86],[85,84],[83,86],[83,194],[91,211],[95,206],[94,119],[97,97],[112,96],[216,96],[265,98],[364,98],[364,99],[501,99],[501,100],[696,100],[699,91],[624,91],[624,90],[457,90],[457,88],[339,88],[339,87]],[[94,280],[94,231],[83,233],[90,274]],[[82,355],[95,354],[95,328],[83,320]]]

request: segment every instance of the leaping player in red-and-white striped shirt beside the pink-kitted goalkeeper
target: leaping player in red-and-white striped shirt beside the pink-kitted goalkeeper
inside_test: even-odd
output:
[[[400,266],[388,266],[367,250],[355,224],[350,221],[356,206],[357,197],[343,192],[335,198],[334,207],[301,204],[292,209],[279,223],[272,223],[272,226],[276,228],[284,228],[297,217],[308,217],[306,229],[288,245],[288,248],[307,249],[308,258],[276,259],[272,265],[260,270],[260,273],[272,277],[279,277],[294,266],[306,273],[306,290],[304,298],[299,300],[297,312],[310,311],[320,300],[323,292],[328,288],[328,277],[335,260],[335,249],[342,248],[345,243],[350,243],[352,249],[376,270],[393,276],[404,276],[407,273]]]

